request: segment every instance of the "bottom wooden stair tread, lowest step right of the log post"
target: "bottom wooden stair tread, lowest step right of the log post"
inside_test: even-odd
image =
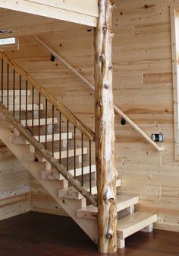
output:
[[[129,216],[118,220],[118,238],[127,238],[127,236],[146,228],[146,226],[149,226],[156,221],[156,214],[141,212],[132,213]]]

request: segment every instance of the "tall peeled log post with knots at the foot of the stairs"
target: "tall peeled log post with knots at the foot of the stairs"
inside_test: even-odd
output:
[[[98,187],[99,252],[117,250],[115,127],[112,92],[111,17],[113,0],[99,0],[95,30],[96,168]]]

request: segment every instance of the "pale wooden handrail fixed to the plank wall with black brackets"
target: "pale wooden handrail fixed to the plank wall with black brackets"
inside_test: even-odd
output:
[[[75,75],[77,75],[86,85],[89,86],[89,88],[91,88],[91,89],[93,89],[93,91],[95,91],[95,87],[86,78],[84,78],[83,75],[81,75],[79,72],[77,72],[77,70],[74,69],[68,62],[66,62],[63,58],[61,58],[61,56],[59,56],[58,53],[55,53],[55,51],[52,50],[49,46],[47,46],[46,43],[42,42],[42,40],[40,40],[39,37],[34,37],[34,38],[41,46],[43,46],[46,50],[48,50],[49,53],[51,53],[62,64],[64,64],[64,66],[66,66],[68,69],[71,70],[71,72],[73,72]],[[127,123],[130,123],[130,125],[133,126],[133,129],[137,130],[137,132],[140,133],[140,135],[143,136],[143,138],[146,139],[146,141],[148,141],[156,150],[158,150],[159,152],[164,150],[162,147],[158,146],[154,141],[152,141],[152,139],[146,133],[144,133],[143,130],[140,129],[140,127],[137,126],[136,123],[133,122],[133,120],[131,120],[129,117],[127,117],[127,115],[124,114],[124,112],[122,112],[116,105],[114,105],[114,109],[115,109],[115,113],[117,113],[121,117],[123,117],[124,120],[127,121]]]

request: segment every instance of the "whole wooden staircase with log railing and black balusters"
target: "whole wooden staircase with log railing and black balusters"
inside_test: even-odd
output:
[[[5,53],[0,55],[0,139],[97,243],[93,131]],[[137,231],[151,232],[157,221],[155,214],[135,212],[137,203],[137,196],[117,195],[118,248]]]

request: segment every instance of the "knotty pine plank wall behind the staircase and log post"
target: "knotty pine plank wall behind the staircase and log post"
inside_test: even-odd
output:
[[[116,0],[113,61],[115,104],[149,136],[163,133],[156,152],[115,117],[119,192],[140,195],[138,210],[159,214],[156,229],[179,232],[179,162],[174,162],[170,5],[179,0]],[[4,17],[5,11],[0,11]],[[20,50],[8,54],[94,129],[93,92],[33,39],[36,34],[93,83],[93,30],[9,11]],[[5,18],[4,18],[5,19]],[[7,21],[6,21],[7,22]],[[3,23],[3,21],[2,21]],[[65,214],[31,178],[31,210]]]

